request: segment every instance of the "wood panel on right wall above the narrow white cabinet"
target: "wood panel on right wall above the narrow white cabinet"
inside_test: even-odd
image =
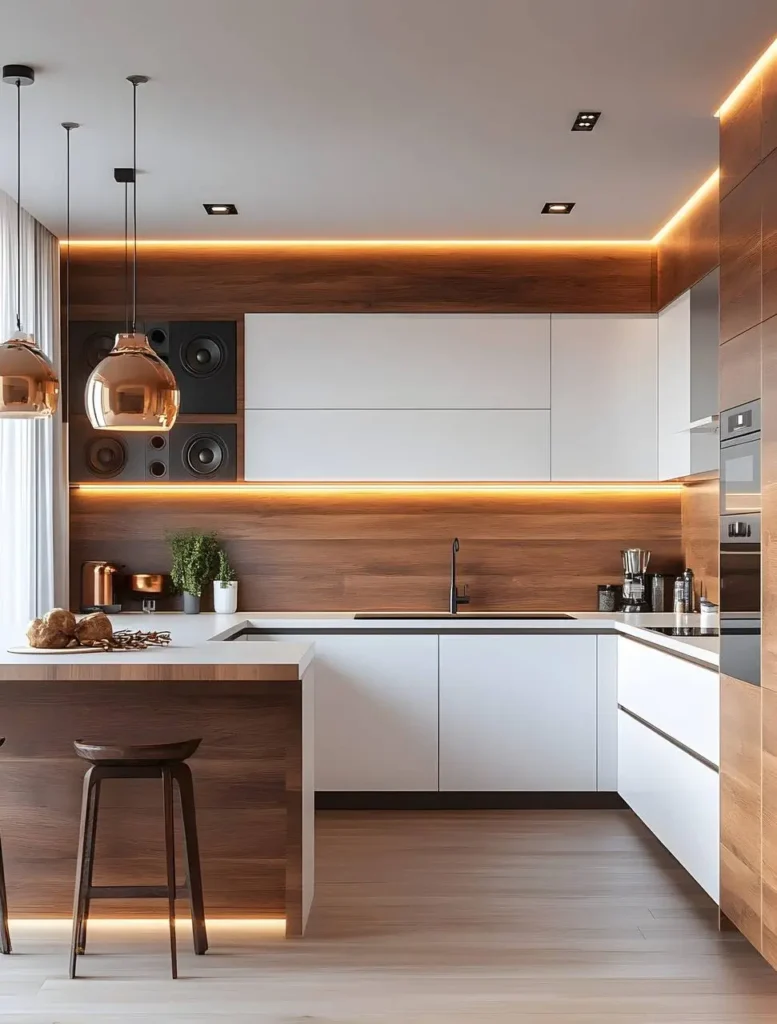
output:
[[[714,270],[720,261],[720,203],[710,188],[656,247],[658,309]]]

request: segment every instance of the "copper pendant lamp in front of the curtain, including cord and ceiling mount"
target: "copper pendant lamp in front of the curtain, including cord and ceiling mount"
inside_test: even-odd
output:
[[[59,378],[51,359],[21,330],[21,86],[32,85],[35,72],[26,65],[6,65],[3,82],[16,87],[16,333],[0,345],[0,418],[46,420],[56,412]]]

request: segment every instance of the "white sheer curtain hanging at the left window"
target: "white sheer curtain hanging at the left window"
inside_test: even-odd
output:
[[[59,372],[59,246],[21,212],[21,329]],[[16,204],[0,191],[0,340],[16,330]],[[0,420],[0,637],[67,602],[67,476],[61,411]]]

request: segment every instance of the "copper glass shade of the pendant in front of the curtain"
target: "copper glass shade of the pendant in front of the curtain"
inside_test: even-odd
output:
[[[56,371],[31,334],[19,331],[0,345],[0,418],[45,420],[58,400]]]

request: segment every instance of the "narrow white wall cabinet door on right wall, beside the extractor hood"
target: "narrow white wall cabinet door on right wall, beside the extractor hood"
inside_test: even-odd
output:
[[[691,472],[691,293],[658,313],[658,479]]]

